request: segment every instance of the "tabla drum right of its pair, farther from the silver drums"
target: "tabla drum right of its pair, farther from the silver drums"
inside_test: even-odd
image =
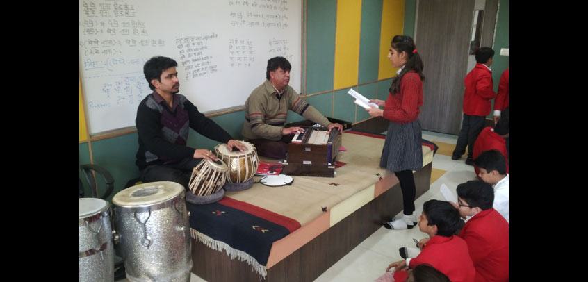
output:
[[[250,142],[239,141],[247,147],[244,153],[240,151],[229,151],[227,144],[218,144],[214,147],[216,156],[229,167],[227,182],[243,183],[253,177],[257,171],[259,160],[257,149]]]

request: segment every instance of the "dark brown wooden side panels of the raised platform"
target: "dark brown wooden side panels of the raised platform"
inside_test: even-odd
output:
[[[432,162],[414,173],[416,198],[429,190],[431,172]],[[193,239],[192,272],[209,282],[313,281],[401,210],[402,191],[396,184],[268,269],[266,279],[247,263],[231,260],[227,254]]]

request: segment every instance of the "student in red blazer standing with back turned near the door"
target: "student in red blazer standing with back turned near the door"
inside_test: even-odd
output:
[[[464,118],[462,129],[459,131],[457,144],[453,151],[452,160],[459,160],[468,147],[466,164],[473,165],[473,147],[477,135],[484,128],[486,116],[490,114],[490,100],[496,97],[492,81],[492,65],[494,50],[482,47],[475,53],[477,64],[464,78],[466,91],[464,92]]]

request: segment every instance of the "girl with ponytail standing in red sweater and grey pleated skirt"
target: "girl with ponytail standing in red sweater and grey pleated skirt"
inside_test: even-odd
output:
[[[383,106],[366,109],[372,117],[384,117],[390,121],[380,167],[394,172],[400,181],[402,217],[386,222],[387,229],[411,229],[416,224],[414,199],[416,185],[413,170],[423,167],[421,148],[420,107],[423,106],[423,60],[416,51],[410,36],[394,36],[388,58],[393,67],[400,67],[389,89],[386,101],[373,99],[370,102]]]

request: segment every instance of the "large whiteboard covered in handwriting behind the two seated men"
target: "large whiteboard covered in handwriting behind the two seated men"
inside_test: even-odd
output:
[[[206,113],[245,105],[270,58],[301,91],[301,0],[80,1],[79,69],[90,134],[135,126],[152,93],[143,65],[177,61],[180,92]]]

